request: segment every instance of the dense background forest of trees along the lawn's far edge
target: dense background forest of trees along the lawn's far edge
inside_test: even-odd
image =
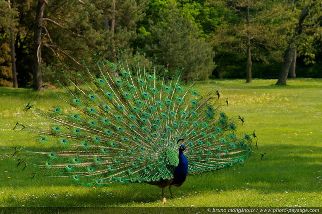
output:
[[[42,90],[124,49],[186,81],[322,77],[321,1],[0,0],[0,13],[0,86]]]

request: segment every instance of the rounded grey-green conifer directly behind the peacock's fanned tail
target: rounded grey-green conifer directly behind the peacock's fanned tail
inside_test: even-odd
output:
[[[207,42],[198,38],[198,30],[179,11],[169,6],[167,14],[160,14],[158,23],[151,23],[144,51],[155,54],[158,64],[174,70],[184,67],[184,79],[207,79],[214,68],[213,51]]]

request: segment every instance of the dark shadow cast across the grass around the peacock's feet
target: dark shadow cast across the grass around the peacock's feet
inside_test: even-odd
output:
[[[240,191],[245,188],[253,188],[263,194],[283,193],[288,191],[302,192],[320,192],[321,185],[316,179],[318,170],[321,166],[320,156],[321,147],[318,146],[293,146],[283,145],[283,147],[274,150],[276,145],[266,145],[267,154],[260,160],[260,154],[253,154],[244,165],[218,172],[203,173],[197,176],[188,176],[185,184],[180,188],[174,188],[174,194],[181,197],[184,194],[199,192],[199,194],[210,193],[214,195],[223,191]],[[312,150],[314,153],[309,153]],[[6,149],[3,152],[9,152]],[[11,151],[12,152],[12,151]],[[312,157],[306,157],[310,156]],[[314,155],[314,156],[313,156]],[[4,165],[5,164],[5,165]],[[11,173],[17,175],[16,179],[2,181],[4,184],[14,186],[17,189],[25,189],[26,193],[30,192],[29,188],[41,188],[53,190],[54,192],[40,195],[36,205],[44,206],[124,206],[133,203],[153,203],[160,201],[160,189],[147,184],[121,184],[114,183],[111,187],[92,187],[76,186],[69,179],[52,179],[46,177],[37,177],[30,180],[31,175],[28,168],[21,172],[17,169],[16,161],[7,159],[2,163],[1,170],[11,169]],[[21,167],[21,166],[20,166]],[[322,174],[319,174],[322,175]],[[5,178],[4,178],[5,179]],[[6,182],[7,181],[7,182]],[[68,194],[68,188],[76,191],[72,199],[56,200],[49,197],[49,194]],[[111,193],[107,196],[107,193]],[[168,190],[167,192],[168,193]],[[34,193],[29,193],[34,194]],[[197,196],[197,195],[196,195]],[[4,198],[4,202],[12,201],[10,196]],[[51,202],[50,202],[51,201]],[[12,203],[12,202],[10,202]],[[25,204],[34,206],[32,202]]]

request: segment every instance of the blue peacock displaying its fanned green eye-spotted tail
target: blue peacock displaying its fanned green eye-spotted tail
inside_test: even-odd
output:
[[[86,72],[76,74],[77,81],[64,71],[68,84],[57,80],[66,93],[56,95],[68,107],[25,107],[48,127],[14,127],[39,142],[38,149],[17,146],[14,152],[23,169],[43,169],[33,177],[67,177],[86,186],[146,183],[160,187],[162,197],[169,186],[173,198],[172,187],[187,175],[243,164],[252,153],[255,132],[236,135],[244,118],[223,112],[228,100],[220,104],[218,90],[201,95],[198,75],[184,84],[183,67],[170,72],[139,57],[121,55],[112,63],[93,55],[95,68],[82,60]]]

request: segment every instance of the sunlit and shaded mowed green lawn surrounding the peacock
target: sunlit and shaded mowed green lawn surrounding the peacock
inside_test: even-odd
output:
[[[195,87],[201,94],[218,89],[222,102],[228,97],[225,112],[244,116],[239,131],[255,129],[258,149],[244,165],[188,176],[167,206],[322,206],[322,80],[275,82],[211,80]],[[41,109],[65,104],[50,91],[0,88],[0,95],[0,206],[160,206],[160,189],[147,184],[92,188],[71,179],[31,180],[30,168],[21,171],[11,154],[13,146],[34,147],[36,140],[12,128],[17,121],[45,125],[23,113],[29,100]]]

